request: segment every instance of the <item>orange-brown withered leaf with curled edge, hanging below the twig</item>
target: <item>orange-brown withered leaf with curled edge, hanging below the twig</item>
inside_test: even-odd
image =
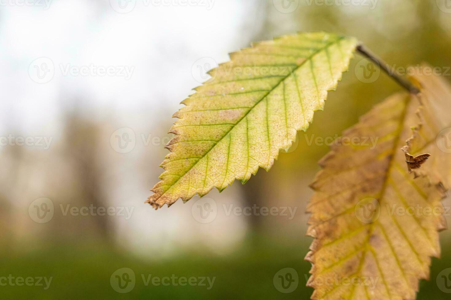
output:
[[[438,106],[449,115],[451,90],[436,76],[416,79],[418,97],[389,97],[341,138],[377,139],[374,149],[338,143],[320,162],[323,170],[307,207],[312,214],[307,234],[315,238],[306,256],[313,264],[312,299],[415,299],[419,279],[429,277],[431,257],[440,255],[438,231],[446,226],[442,182],[449,182],[449,169],[432,174],[431,168],[445,169],[451,157],[435,149],[437,133],[446,125],[445,118],[433,116]],[[421,173],[410,174],[400,148],[418,116],[421,124],[404,150],[415,157],[425,151],[433,155]]]

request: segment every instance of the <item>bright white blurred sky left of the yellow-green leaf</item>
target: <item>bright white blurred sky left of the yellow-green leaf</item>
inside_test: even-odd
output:
[[[83,111],[158,111],[162,106],[175,111],[198,85],[191,75],[194,62],[202,57],[226,61],[228,52],[247,45],[260,29],[259,20],[247,19],[253,0],[196,0],[207,6],[129,0],[135,4],[129,13],[112,8],[126,0],[53,0],[48,9],[44,0],[34,6],[20,1],[1,2],[0,111],[7,117],[0,122],[30,134],[56,130],[59,110],[73,101]],[[55,66],[45,84],[28,74],[30,63],[41,57]],[[129,80],[64,75],[67,67],[90,65],[124,66],[133,73]]]

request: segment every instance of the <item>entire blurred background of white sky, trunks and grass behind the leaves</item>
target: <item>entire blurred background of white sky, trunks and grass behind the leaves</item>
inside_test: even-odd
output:
[[[426,61],[451,75],[450,0],[2,0],[0,277],[35,284],[0,286],[0,298],[308,299],[304,209],[328,152],[308,140],[340,135],[400,90],[385,74],[368,79],[363,57],[271,172],[207,195],[214,217],[198,215],[198,197],[143,203],[171,116],[206,71],[296,31],[356,36],[396,67]],[[245,207],[278,213],[233,213]],[[449,299],[436,278],[451,267],[450,234],[418,299]],[[285,268],[298,274],[289,293],[273,280]],[[118,292],[116,275],[135,276],[132,289]],[[149,275],[198,284],[146,285]]]

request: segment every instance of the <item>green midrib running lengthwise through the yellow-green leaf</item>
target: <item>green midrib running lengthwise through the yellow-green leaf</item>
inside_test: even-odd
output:
[[[302,63],[300,63],[297,67],[295,67],[295,69],[294,69],[292,72],[290,72],[290,74],[288,74],[287,76],[283,77],[283,78],[281,79],[281,81],[279,81],[279,82],[278,82],[271,90],[268,90],[267,93],[266,93],[265,95],[263,95],[262,98],[261,98],[260,100],[258,100],[252,107],[250,107],[249,111],[246,112],[246,113],[244,114],[244,116],[241,117],[241,118],[235,123],[235,125],[233,125],[233,126],[230,128],[230,130],[228,130],[228,131],[224,134],[224,136],[223,136],[221,139],[219,139],[216,143],[214,143],[214,144],[212,145],[212,147],[211,147],[210,149],[208,149],[207,152],[205,152],[205,154],[202,155],[202,157],[200,157],[198,161],[196,161],[196,163],[193,164],[193,166],[191,166],[188,170],[186,170],[186,172],[185,172],[182,176],[180,176],[179,179],[177,179],[173,184],[170,185],[170,188],[168,188],[166,191],[164,191],[163,193],[161,193],[161,195],[158,196],[158,198],[156,198],[156,199],[153,200],[153,201],[156,201],[156,200],[160,199],[166,192],[168,192],[173,186],[175,186],[175,184],[177,184],[177,182],[179,182],[179,180],[180,180],[181,178],[183,178],[183,177],[184,177],[191,169],[193,169],[193,167],[196,166],[196,165],[198,164],[198,162],[202,160],[202,158],[204,158],[206,155],[208,155],[208,153],[210,153],[210,151],[212,151],[212,149],[213,149],[219,142],[221,142],[222,139],[224,139],[224,138],[230,133],[230,131],[232,131],[232,130],[236,127],[236,125],[238,125],[239,122],[241,122],[241,121],[249,114],[249,112],[251,112],[251,111],[253,110],[254,107],[256,107],[256,106],[258,105],[258,103],[262,102],[263,99],[265,99],[272,91],[276,90],[276,88],[277,88],[279,85],[281,85],[281,83],[284,82],[285,79],[287,79],[290,75],[294,74],[300,67],[304,66],[305,63],[307,63],[308,61],[310,61],[311,59],[313,59],[314,56],[316,56],[317,54],[321,53],[322,51],[328,49],[331,45],[338,44],[341,40],[344,40],[344,39],[345,39],[345,36],[340,36],[337,40],[334,40],[334,41],[332,41],[332,42],[330,42],[330,43],[324,45],[323,48],[318,49],[317,51],[315,51],[314,53],[312,53],[309,57],[305,58],[305,60],[304,60]],[[230,153],[229,153],[228,155],[230,155]]]

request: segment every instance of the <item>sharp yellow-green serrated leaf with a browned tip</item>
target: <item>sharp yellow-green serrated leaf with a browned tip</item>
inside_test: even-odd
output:
[[[269,170],[297,131],[307,130],[353,56],[354,38],[316,32],[282,36],[230,54],[174,114],[176,136],[148,203],[188,201]]]

